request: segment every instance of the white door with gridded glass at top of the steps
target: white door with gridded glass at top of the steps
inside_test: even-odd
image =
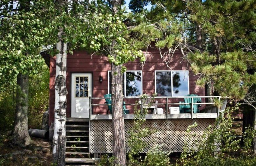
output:
[[[89,118],[92,74],[72,73],[71,77],[71,117]]]

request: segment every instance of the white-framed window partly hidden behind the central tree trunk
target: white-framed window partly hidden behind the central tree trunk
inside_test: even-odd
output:
[[[112,93],[111,74],[108,71],[108,93]],[[123,74],[123,94],[125,97],[142,94],[142,71],[126,71]]]

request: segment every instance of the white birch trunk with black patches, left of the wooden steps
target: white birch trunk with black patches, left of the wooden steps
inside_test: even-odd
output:
[[[60,41],[57,43],[56,77],[55,77],[55,104],[54,104],[54,132],[52,139],[53,163],[65,166],[66,152],[66,107],[67,107],[67,43],[62,40],[62,29],[58,33]]]

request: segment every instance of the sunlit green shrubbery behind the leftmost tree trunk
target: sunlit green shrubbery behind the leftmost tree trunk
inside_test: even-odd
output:
[[[39,74],[29,76],[28,126],[41,128],[43,112],[49,105],[49,68],[45,65]],[[0,132],[13,129],[16,104],[16,85],[0,92]]]

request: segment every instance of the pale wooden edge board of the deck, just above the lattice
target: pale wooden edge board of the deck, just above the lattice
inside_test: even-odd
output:
[[[217,118],[217,113],[197,113],[193,114],[193,119],[197,118]],[[146,119],[191,119],[191,114],[147,114]],[[91,115],[90,120],[111,120],[112,115]],[[133,114],[124,115],[125,120],[134,119]]]

